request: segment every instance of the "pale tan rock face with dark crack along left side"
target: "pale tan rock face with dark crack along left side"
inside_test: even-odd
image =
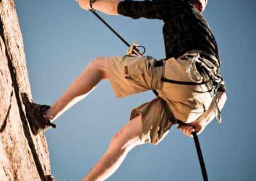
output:
[[[20,93],[31,96],[13,0],[0,0],[0,180],[45,180],[51,174],[44,134],[33,136]]]

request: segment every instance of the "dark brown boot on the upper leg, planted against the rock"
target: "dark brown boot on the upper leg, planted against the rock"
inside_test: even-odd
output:
[[[45,117],[45,111],[51,108],[51,106],[38,105],[29,101],[28,94],[26,93],[22,93],[21,96],[26,108],[26,117],[34,135],[38,134],[40,131],[46,131],[50,127],[56,128],[56,124],[52,124],[51,119]]]

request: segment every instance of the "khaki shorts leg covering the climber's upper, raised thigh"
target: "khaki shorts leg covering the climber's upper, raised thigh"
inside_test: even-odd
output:
[[[161,87],[163,67],[155,68],[153,57],[124,55],[109,61],[109,80],[117,98]]]

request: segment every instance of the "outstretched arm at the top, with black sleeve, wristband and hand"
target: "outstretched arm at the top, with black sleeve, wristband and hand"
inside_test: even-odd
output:
[[[90,0],[76,0],[84,10],[90,8]],[[170,4],[169,4],[170,5]],[[158,18],[163,19],[170,12],[167,3],[160,1],[120,1],[120,0],[97,0],[93,4],[95,10],[108,15],[124,15],[131,18]]]

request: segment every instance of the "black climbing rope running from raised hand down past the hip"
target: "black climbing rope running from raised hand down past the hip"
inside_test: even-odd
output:
[[[95,0],[92,0],[92,4],[95,2]],[[92,4],[90,2],[90,6],[92,8]],[[95,15],[97,18],[99,18],[99,20],[105,24],[120,40],[122,40],[124,42],[125,45],[127,45],[127,47],[130,47],[131,45],[124,40],[124,38],[122,38],[122,36],[120,36],[120,34],[118,34],[102,17],[100,17],[100,15],[98,13],[95,12],[95,10],[92,8],[92,10],[90,10],[93,15]],[[144,49],[143,53],[141,54],[139,52],[139,50],[137,49],[138,47],[141,47]],[[134,48],[132,50],[132,52],[136,55],[139,55],[139,56],[142,56],[144,53],[145,53],[145,50],[146,48],[143,47],[143,46],[138,46],[137,48]],[[205,83],[205,82],[204,82]],[[154,94],[156,96],[158,96],[158,92],[157,91],[154,91]],[[179,124],[184,124],[184,122],[180,122],[179,121]],[[203,157],[203,154],[202,154],[202,150],[200,148],[200,142],[199,142],[199,139],[198,139],[198,136],[195,132],[192,133],[193,134],[193,138],[194,138],[194,141],[195,141],[195,146],[196,146],[196,152],[197,152],[197,155],[198,155],[198,159],[199,159],[199,163],[200,163],[200,166],[201,166],[201,170],[202,170],[202,175],[203,175],[203,178],[204,178],[204,181],[208,181],[208,177],[207,177],[207,171],[206,171],[206,168],[205,168],[205,163],[204,163],[204,157]]]

